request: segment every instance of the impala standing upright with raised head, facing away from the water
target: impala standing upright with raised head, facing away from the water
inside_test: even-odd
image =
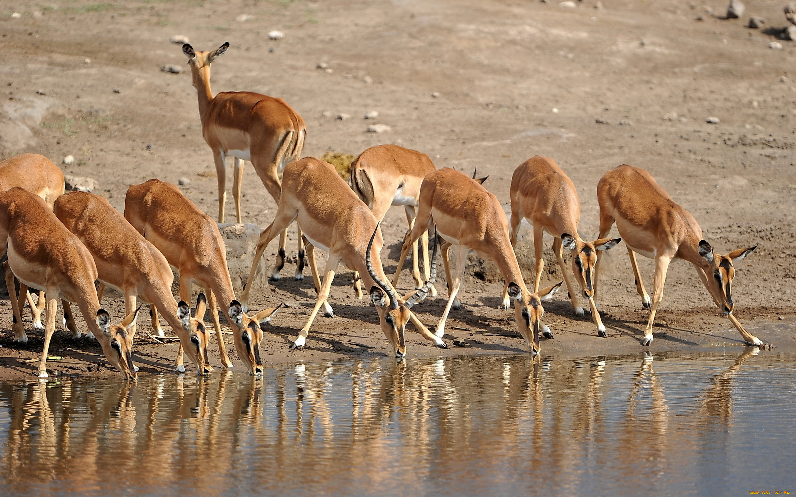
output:
[[[283,99],[275,99],[252,91],[222,91],[213,97],[210,89],[210,64],[229,48],[225,42],[210,52],[196,52],[189,44],[182,45],[191,66],[193,87],[199,99],[199,117],[202,136],[216,162],[218,178],[218,222],[224,223],[226,192],[226,157],[235,157],[235,175],[232,196],[235,199],[237,222],[243,223],[240,215],[240,187],[244,175],[244,161],[252,166],[263,181],[265,189],[279,204],[282,195],[282,175],[288,162],[301,157],[306,136],[304,119]],[[279,280],[279,272],[285,265],[287,231],[279,238],[279,257],[271,270],[271,280]],[[298,231],[298,266],[295,279],[304,278],[304,250],[301,231]]]

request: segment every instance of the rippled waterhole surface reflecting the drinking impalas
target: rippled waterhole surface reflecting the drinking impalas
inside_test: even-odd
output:
[[[776,351],[0,383],[2,495],[796,492]]]

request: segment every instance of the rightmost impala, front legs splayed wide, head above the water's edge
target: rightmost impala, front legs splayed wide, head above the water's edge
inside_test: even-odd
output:
[[[736,270],[733,262],[751,254],[757,246],[733,250],[729,254],[713,253],[710,243],[702,239],[702,230],[693,215],[675,204],[672,197],[658,186],[650,173],[630,165],[620,165],[603,175],[597,184],[599,200],[599,235],[603,238],[616,223],[619,235],[625,240],[630,265],[636,278],[636,291],[642,297],[645,309],[650,309],[641,344],[652,343],[652,326],[655,312],[663,298],[666,270],[674,259],[684,259],[696,268],[704,287],[716,305],[740,332],[747,344],[762,345],[757,337],[743,328],[732,315],[732,278]],[[644,288],[642,275],[638,271],[636,253],[655,259],[653,297]],[[595,292],[597,300],[597,278],[599,258],[595,266]]]

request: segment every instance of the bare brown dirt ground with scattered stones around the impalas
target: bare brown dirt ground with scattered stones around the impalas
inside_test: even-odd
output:
[[[509,202],[517,165],[535,154],[553,157],[578,188],[583,239],[597,235],[599,177],[625,163],[649,170],[696,217],[717,252],[758,245],[738,265],[735,314],[779,350],[796,347],[796,45],[777,39],[787,25],[783,2],[747,2],[747,14],[732,20],[719,18],[724,0],[708,0],[707,6],[689,0],[602,0],[603,8],[596,8],[598,3],[0,0],[0,87],[7,91],[2,158],[42,153],[66,174],[95,178],[97,192],[119,210],[130,184],[185,177],[185,195],[216,216],[213,157],[201,137],[185,56],[170,37],[188,36],[194,48],[205,50],[229,41],[228,52],[213,64],[213,90],[285,99],[306,120],[304,155],[357,154],[396,143],[427,153],[438,168],[471,173],[478,167],[490,175],[486,188],[503,203]],[[765,17],[767,28],[745,27],[750,15]],[[274,29],[283,31],[283,39],[267,37]],[[770,48],[771,42],[782,48]],[[182,72],[163,72],[166,64]],[[365,120],[369,111],[378,118]],[[341,114],[350,117],[338,119]],[[720,122],[708,123],[708,117]],[[366,132],[373,123],[391,130]],[[69,154],[76,161],[62,164]],[[228,185],[231,176],[228,171]],[[228,213],[234,212],[231,198]],[[275,212],[248,163],[243,211],[245,222],[260,227]],[[392,274],[406,230],[400,208],[388,213],[383,229],[388,242],[382,260]],[[295,241],[289,247],[295,255]],[[267,252],[269,266],[274,249],[275,242]],[[517,250],[530,281],[532,250],[527,241]],[[609,337],[596,336],[588,313],[574,316],[564,291],[545,305],[555,338],[544,340],[544,354],[643,350],[638,337],[647,312],[625,248],[613,252],[613,269],[601,275]],[[653,262],[640,258],[640,265],[651,293]],[[467,276],[464,307],[451,312],[445,337],[451,348],[433,348],[408,331],[410,359],[525,353],[513,312],[497,308],[502,282],[484,267],[480,278]],[[549,252],[546,267],[546,279],[560,281]],[[287,278],[252,293],[252,309],[287,303],[267,329],[267,362],[388,353],[377,313],[353,298],[349,274],[334,282],[330,303],[337,317],[318,317],[307,347],[288,351],[315,295],[311,278],[295,282],[293,270],[288,264]],[[408,271],[401,286],[412,288]],[[438,287],[440,297],[416,308],[430,326],[447,295],[444,285]],[[122,315],[119,296],[106,302],[111,315]],[[31,339],[14,344],[10,305],[0,305],[6,306],[0,313],[0,379],[29,377],[36,365],[21,360],[41,353],[41,332],[33,332],[25,312]],[[670,267],[658,316],[648,350],[742,346],[686,262]],[[149,340],[146,321],[139,321],[136,360],[142,372],[171,371],[177,347]],[[466,346],[453,346],[454,337]],[[96,344],[73,342],[64,332],[56,333],[50,353],[68,356],[50,363],[62,374],[113,374]]]

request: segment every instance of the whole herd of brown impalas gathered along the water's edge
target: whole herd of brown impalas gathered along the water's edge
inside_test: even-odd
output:
[[[747,332],[732,315],[733,262],[755,250],[714,254],[702,239],[696,219],[674,200],[643,169],[620,165],[605,173],[597,185],[600,238],[587,242],[577,226],[580,204],[575,185],[548,157],[532,157],[521,164],[511,181],[511,219],[497,197],[480,180],[455,169],[436,169],[428,156],[395,145],[365,150],[351,165],[349,184],[334,166],[314,157],[301,157],[306,126],[304,120],[282,99],[249,91],[227,91],[213,96],[210,65],[229,44],[211,52],[197,52],[190,45],[188,56],[193,85],[197,88],[202,134],[213,149],[218,192],[219,222],[224,222],[225,159],[235,157],[232,196],[237,222],[244,161],[251,161],[265,188],[278,204],[274,221],[260,235],[248,282],[254,281],[259,259],[268,243],[279,236],[279,254],[271,279],[279,279],[285,262],[286,229],[298,224],[298,265],[296,279],[302,279],[305,258],[310,265],[318,299],[293,348],[306,344],[306,337],[318,311],[334,316],[326,301],[335,271],[340,264],[355,271],[354,290],[362,297],[362,282],[379,315],[384,335],[396,356],[406,354],[404,330],[408,321],[427,340],[447,348],[442,337],[451,307],[458,309],[457,294],[466,257],[474,250],[479,257],[494,261],[505,278],[502,307],[514,301],[517,330],[530,350],[540,351],[540,334],[552,338],[541,323],[542,301],[552,298],[566,282],[576,314],[583,315],[579,294],[564,266],[564,248],[572,254],[572,274],[580,293],[589,302],[591,317],[599,336],[607,336],[597,309],[597,282],[600,253],[624,240],[633,266],[636,289],[645,308],[650,309],[641,343],[650,345],[657,307],[663,296],[666,270],[675,258],[693,263],[716,305],[732,320],[743,340],[762,342]],[[474,175],[475,176],[475,175]],[[280,180],[281,178],[281,180]],[[392,282],[381,266],[384,243],[379,223],[391,205],[403,205],[409,231],[401,248],[400,261]],[[533,225],[536,251],[536,278],[533,292],[525,286],[514,254],[522,219]],[[622,238],[607,235],[616,224]],[[428,233],[435,231],[431,261]],[[540,289],[544,269],[544,231],[552,235],[552,249],[564,275],[564,282]],[[126,377],[135,379],[131,349],[136,331],[139,301],[150,305],[152,328],[163,331],[158,312],[178,334],[180,350],[176,370],[185,371],[183,353],[196,366],[197,374],[212,371],[209,364],[209,330],[203,318],[209,309],[216,331],[223,367],[232,367],[220,332],[218,308],[232,327],[235,349],[252,375],[263,371],[259,343],[263,324],[279,307],[249,316],[248,297],[252,285],[244,288],[240,301],[232,290],[224,240],[213,219],[197,208],[173,184],[157,179],[134,184],[127,190],[124,215],[103,197],[87,192],[64,193],[64,175],[47,158],[25,153],[0,163],[0,239],[6,241],[3,263],[6,285],[14,311],[14,340],[26,342],[21,310],[28,303],[33,327],[45,329],[44,350],[38,366],[46,377],[47,352],[56,326],[57,299],[64,308],[64,326],[80,337],[71,304],[88,324],[88,332],[102,345],[107,359]],[[424,274],[419,271],[418,239],[422,241]],[[456,266],[451,273],[449,250],[456,246]],[[448,300],[435,331],[431,332],[412,313],[412,306],[427,294],[436,295],[436,255],[439,247],[447,281]],[[315,262],[315,248],[329,254],[323,276]],[[412,278],[416,290],[407,296],[396,292],[400,270],[412,249]],[[644,289],[636,253],[655,259],[653,296]],[[180,277],[181,301],[171,292],[172,270]],[[14,279],[19,282],[16,292]],[[95,282],[99,282],[99,287]],[[193,317],[188,302],[195,281],[199,293]],[[100,308],[106,287],[122,293],[127,316],[113,324]],[[29,290],[39,291],[36,301]],[[45,310],[45,324],[41,311]]]

